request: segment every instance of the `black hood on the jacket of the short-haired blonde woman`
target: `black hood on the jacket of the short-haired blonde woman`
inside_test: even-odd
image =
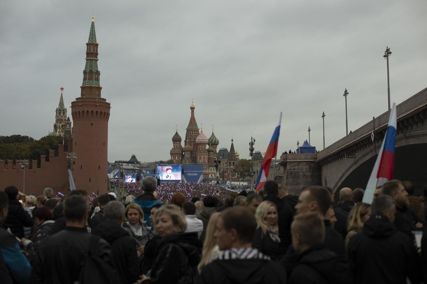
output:
[[[202,242],[197,237],[196,232],[184,233],[178,232],[168,235],[161,239],[158,244],[159,250],[166,244],[178,244],[185,254],[188,256],[190,264],[197,265],[200,261],[202,253]]]

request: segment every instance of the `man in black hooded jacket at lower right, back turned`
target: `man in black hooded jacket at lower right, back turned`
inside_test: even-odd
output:
[[[380,195],[372,202],[371,218],[347,248],[356,283],[419,283],[420,260],[414,244],[393,225],[395,201]]]

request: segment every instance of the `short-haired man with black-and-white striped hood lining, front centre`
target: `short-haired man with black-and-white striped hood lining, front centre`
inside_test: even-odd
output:
[[[256,228],[255,217],[247,208],[221,212],[214,236],[224,253],[202,269],[199,284],[286,283],[286,271],[251,247]]]

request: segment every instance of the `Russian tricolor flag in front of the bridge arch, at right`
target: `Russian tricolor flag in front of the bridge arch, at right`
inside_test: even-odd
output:
[[[382,186],[386,181],[393,179],[393,167],[395,162],[395,144],[396,144],[396,104],[390,110],[389,125],[387,126],[386,136],[375,161],[368,184],[366,185],[363,203],[372,204],[374,190]]]

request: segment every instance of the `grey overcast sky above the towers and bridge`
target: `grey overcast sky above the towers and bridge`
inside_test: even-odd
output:
[[[265,152],[283,112],[279,155],[326,145],[426,87],[427,1],[1,1],[0,135],[52,131],[61,86],[80,95],[94,12],[102,97],[111,102],[108,161],[168,160],[191,99],[205,135],[231,136],[240,158]],[[183,145],[184,146],[184,145]]]

